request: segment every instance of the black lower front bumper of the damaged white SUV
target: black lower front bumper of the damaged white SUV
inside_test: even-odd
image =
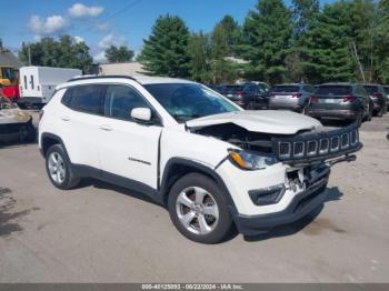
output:
[[[243,215],[232,213],[238,230],[243,235],[256,235],[277,225],[298,221],[323,204],[328,177],[320,183],[297,194],[290,204],[282,211],[260,215]]]

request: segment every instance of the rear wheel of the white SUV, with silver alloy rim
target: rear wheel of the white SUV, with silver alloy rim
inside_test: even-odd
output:
[[[59,143],[51,146],[46,153],[46,171],[51,183],[62,190],[72,189],[80,182],[80,178],[71,170],[68,154]]]

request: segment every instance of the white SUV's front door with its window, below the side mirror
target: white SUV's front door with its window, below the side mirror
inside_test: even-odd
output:
[[[130,114],[134,108],[150,108],[154,122],[146,124],[132,120]],[[162,127],[160,118],[141,93],[127,84],[108,84],[104,118],[99,128],[103,177],[121,179],[122,183],[140,182],[157,189]]]

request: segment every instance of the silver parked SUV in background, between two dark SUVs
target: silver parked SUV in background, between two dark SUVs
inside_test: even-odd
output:
[[[276,84],[269,90],[269,109],[289,109],[305,112],[315,91],[311,84]]]

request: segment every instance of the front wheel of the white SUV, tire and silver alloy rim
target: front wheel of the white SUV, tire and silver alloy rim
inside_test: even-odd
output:
[[[173,184],[168,209],[176,228],[196,242],[221,242],[232,228],[225,194],[213,180],[199,173],[187,174]]]

